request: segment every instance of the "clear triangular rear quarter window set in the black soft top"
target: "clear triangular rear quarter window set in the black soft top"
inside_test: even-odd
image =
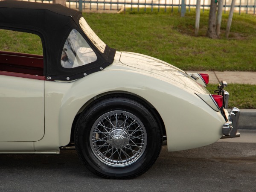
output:
[[[64,44],[61,54],[61,65],[64,68],[74,68],[92,63],[97,56],[82,35],[73,29]]]

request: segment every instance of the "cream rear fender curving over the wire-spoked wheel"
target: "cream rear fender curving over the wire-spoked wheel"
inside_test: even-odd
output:
[[[46,133],[35,142],[36,151],[67,145],[76,114],[94,98],[110,93],[132,94],[149,102],[163,119],[168,151],[208,145],[222,136],[224,117],[196,94],[170,84],[163,76],[121,64],[118,57],[102,72],[77,81],[45,82]]]

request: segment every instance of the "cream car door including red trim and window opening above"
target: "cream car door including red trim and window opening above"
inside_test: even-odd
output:
[[[0,29],[0,42],[0,141],[41,140],[45,79],[41,38]]]

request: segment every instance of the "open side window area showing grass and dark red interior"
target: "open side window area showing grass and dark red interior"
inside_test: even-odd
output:
[[[26,32],[0,29],[0,71],[44,76],[41,38]]]

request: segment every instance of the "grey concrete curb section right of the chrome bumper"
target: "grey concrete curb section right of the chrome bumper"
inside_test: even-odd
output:
[[[256,109],[240,109],[238,129],[256,129]]]

